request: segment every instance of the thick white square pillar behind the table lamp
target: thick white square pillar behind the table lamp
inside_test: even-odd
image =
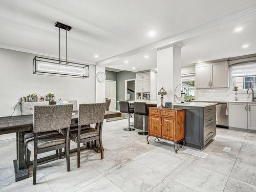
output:
[[[181,47],[173,45],[157,50],[157,91],[163,87],[167,92],[167,95],[163,97],[163,105],[165,102],[174,104],[174,91],[176,86],[181,83]],[[176,94],[177,96],[181,95],[180,87]],[[161,105],[159,95],[157,104]]]

